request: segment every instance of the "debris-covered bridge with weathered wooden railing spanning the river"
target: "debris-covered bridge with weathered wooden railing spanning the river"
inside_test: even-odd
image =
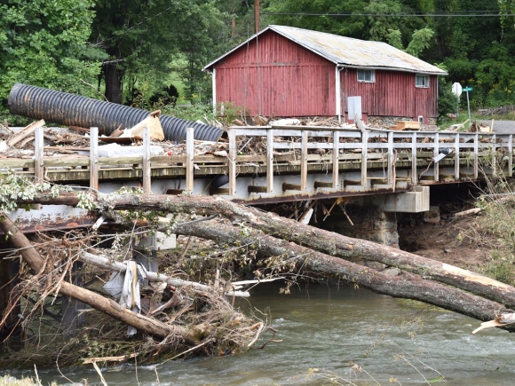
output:
[[[38,128],[35,157],[3,159],[0,171],[102,193],[141,186],[146,193],[209,194],[248,204],[386,194],[384,210],[398,212],[428,210],[428,185],[512,177],[511,134],[357,126],[233,127],[223,155],[195,155],[199,141],[187,129],[184,154],[152,156],[144,130],[142,155],[115,158],[99,157],[96,128],[86,154],[45,157],[44,130]],[[96,221],[87,210],[67,206],[18,209],[11,216],[24,232]]]

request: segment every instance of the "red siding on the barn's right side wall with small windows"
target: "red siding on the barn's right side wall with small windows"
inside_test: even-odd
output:
[[[342,111],[347,112],[347,97],[361,96],[363,113],[375,116],[406,116],[416,119],[438,116],[438,83],[430,76],[428,88],[415,87],[415,74],[376,70],[375,83],[358,82],[357,70],[347,68],[340,73]]]

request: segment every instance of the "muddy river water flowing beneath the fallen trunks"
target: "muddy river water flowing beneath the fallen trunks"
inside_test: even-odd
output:
[[[240,306],[267,318],[282,343],[258,350],[261,342],[253,351],[226,357],[105,369],[107,384],[322,385],[331,384],[331,377],[345,385],[515,384],[515,335],[498,329],[471,335],[478,320],[421,303],[314,285],[279,295],[278,286],[262,285]],[[39,373],[44,382],[71,384],[55,371]],[[92,367],[63,373],[75,382],[101,384]]]

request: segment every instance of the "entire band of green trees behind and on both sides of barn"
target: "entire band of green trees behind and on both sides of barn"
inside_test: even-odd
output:
[[[261,28],[384,41],[446,67],[441,111],[453,104],[455,82],[474,88],[473,107],[515,104],[515,0],[260,3]],[[147,105],[174,83],[179,102],[205,103],[211,83],[202,67],[254,33],[253,7],[254,0],[4,0],[0,100],[5,107],[12,84],[24,82]]]

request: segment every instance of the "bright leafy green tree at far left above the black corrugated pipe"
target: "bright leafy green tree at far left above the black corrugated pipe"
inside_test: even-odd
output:
[[[92,0],[4,0],[0,4],[0,99],[14,83],[91,94],[99,54],[86,44]]]

